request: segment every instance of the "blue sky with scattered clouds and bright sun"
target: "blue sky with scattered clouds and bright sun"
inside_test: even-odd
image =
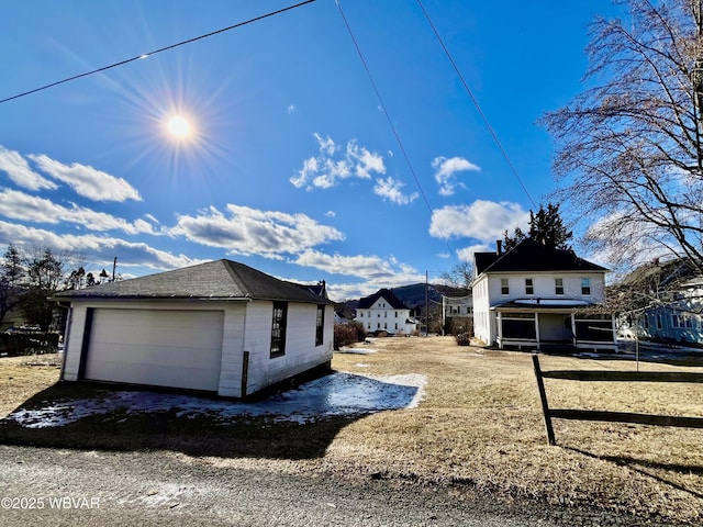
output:
[[[343,300],[525,226],[554,189],[536,121],[583,89],[610,0],[422,0],[527,193],[421,5],[339,1],[364,61],[317,0],[0,103],[0,245],[125,278],[230,258]],[[293,3],[3,2],[0,99]]]

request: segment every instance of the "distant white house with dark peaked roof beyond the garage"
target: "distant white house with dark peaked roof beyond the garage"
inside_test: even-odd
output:
[[[410,309],[390,289],[381,289],[360,299],[356,322],[362,324],[368,333],[412,335],[417,329],[417,323],[410,316]]]

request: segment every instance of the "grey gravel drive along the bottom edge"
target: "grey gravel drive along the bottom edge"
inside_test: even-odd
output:
[[[598,512],[459,501],[275,462],[0,446],[2,526],[656,526]],[[33,508],[29,508],[33,507]],[[667,524],[670,525],[670,524]]]

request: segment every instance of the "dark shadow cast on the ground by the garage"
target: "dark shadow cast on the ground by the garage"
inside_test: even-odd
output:
[[[377,397],[393,386],[390,393],[397,396],[395,406],[380,410],[404,407],[419,391],[416,386],[360,379],[360,389],[367,393],[376,390],[378,393],[371,395]],[[342,380],[348,388],[355,379],[343,377]],[[269,399],[255,402],[105,389],[90,383],[57,383],[0,419],[0,444],[80,450],[158,449],[222,458],[314,459],[325,455],[342,428],[373,413],[364,401],[360,406],[344,406],[349,404],[345,400],[339,402],[342,406],[336,412],[328,412],[326,406],[315,415],[315,405],[331,404],[330,400],[334,402],[339,396],[338,384],[314,384],[324,381],[269,394]],[[399,392],[399,388],[402,391]],[[349,396],[354,397],[354,393]],[[149,403],[135,411],[135,400]],[[153,400],[166,400],[168,405],[159,407]],[[74,415],[88,404],[91,412]],[[250,408],[257,404],[264,405],[267,412],[272,411],[253,415]],[[63,421],[59,417],[58,423],[55,417],[54,422],[46,417],[62,415],[62,412],[72,417]],[[40,417],[27,419],[36,415]]]

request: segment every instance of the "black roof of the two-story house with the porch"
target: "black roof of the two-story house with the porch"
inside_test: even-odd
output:
[[[604,267],[587,261],[567,249],[548,247],[534,239],[523,239],[507,253],[477,253],[476,272],[509,271],[607,271]]]

